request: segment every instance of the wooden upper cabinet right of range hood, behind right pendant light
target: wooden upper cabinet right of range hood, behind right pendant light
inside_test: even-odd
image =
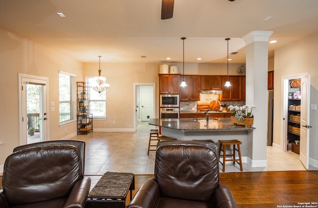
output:
[[[225,87],[228,76],[222,77],[222,101],[245,100],[245,76],[229,76],[232,86]]]

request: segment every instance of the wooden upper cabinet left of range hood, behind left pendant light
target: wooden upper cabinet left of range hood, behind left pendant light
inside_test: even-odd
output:
[[[180,83],[183,76],[180,77]],[[186,87],[180,87],[180,101],[200,101],[201,77],[200,76],[184,76]]]

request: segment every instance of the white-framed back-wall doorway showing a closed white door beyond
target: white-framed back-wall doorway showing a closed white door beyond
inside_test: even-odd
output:
[[[156,117],[156,83],[134,83],[134,130],[140,122]]]

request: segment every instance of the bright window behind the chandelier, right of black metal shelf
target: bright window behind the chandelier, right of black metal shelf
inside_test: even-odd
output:
[[[90,87],[96,85],[96,77],[85,77]],[[106,80],[106,77],[101,76]],[[93,118],[106,118],[106,91],[97,93],[93,89],[89,90],[89,113]]]

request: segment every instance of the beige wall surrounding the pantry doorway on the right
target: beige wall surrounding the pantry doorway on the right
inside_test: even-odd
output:
[[[289,76],[300,73],[309,73],[311,76],[310,103],[318,104],[318,33],[298,40],[292,44],[275,51],[275,78],[274,78],[274,129],[273,143],[278,146],[286,138],[282,138],[283,128],[282,112],[282,76]],[[318,111],[310,110],[310,163],[318,161]],[[317,163],[316,163],[317,164]]]

